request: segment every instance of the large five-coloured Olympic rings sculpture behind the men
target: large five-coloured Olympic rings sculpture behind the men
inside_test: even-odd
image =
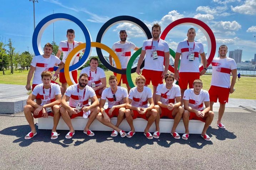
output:
[[[145,25],[145,23],[143,23],[141,20],[139,20],[135,17],[132,17],[132,16],[117,16],[117,17],[111,18],[100,28],[100,31],[97,34],[96,42],[91,42],[91,35],[90,35],[89,31],[87,30],[86,26],[79,19],[77,19],[76,17],[69,15],[69,14],[63,14],[63,13],[52,14],[52,15],[49,15],[49,16],[45,17],[44,19],[42,19],[38,23],[38,25],[36,26],[36,28],[34,30],[33,37],[32,37],[32,46],[33,46],[35,55],[43,54],[43,51],[41,48],[41,37],[42,37],[42,33],[44,32],[46,27],[49,26],[51,23],[53,23],[55,21],[60,21],[60,20],[75,22],[81,28],[82,32],[84,33],[85,41],[86,41],[86,43],[82,43],[79,46],[77,46],[76,48],[74,48],[67,56],[67,59],[65,62],[65,67],[64,67],[64,69],[61,70],[62,72],[64,71],[65,78],[67,80],[67,84],[72,85],[75,83],[75,81],[73,80],[73,78],[71,76],[71,71],[82,67],[89,59],[89,56],[91,54],[91,47],[96,47],[97,55],[98,55],[100,61],[102,62],[102,64],[104,64],[105,67],[107,67],[109,70],[117,73],[117,82],[120,82],[121,74],[126,74],[127,81],[129,83],[130,87],[134,87],[134,84],[131,79],[131,73],[135,73],[137,67],[135,67],[135,68],[131,68],[131,67],[132,67],[134,60],[141,53],[141,48],[139,50],[137,50],[131,56],[131,59],[129,60],[129,62],[127,64],[127,69],[122,70],[120,60],[117,57],[116,53],[114,51],[112,51],[111,48],[102,44],[101,40],[102,40],[104,34],[106,33],[106,31],[111,26],[113,26],[117,23],[121,23],[121,22],[129,22],[129,23],[132,23],[132,24],[138,26],[144,32],[147,39],[151,39],[152,38],[151,31]],[[179,20],[176,20],[176,21],[170,23],[165,28],[165,30],[162,32],[160,38],[165,39],[165,37],[167,36],[167,33],[169,33],[172,28],[174,28],[175,26],[178,26],[178,25],[185,25],[185,24],[196,26],[205,34],[205,37],[206,37],[207,43],[208,43],[208,53],[207,53],[207,56],[209,56],[207,59],[207,67],[208,67],[211,64],[211,62],[214,58],[214,55],[215,55],[216,40],[215,40],[214,33],[211,31],[211,28],[209,26],[207,26],[204,22],[202,22],[198,19],[195,19],[195,18],[181,18]],[[83,49],[85,49],[84,55],[79,60],[79,62],[74,64],[75,56]],[[113,57],[113,59],[116,63],[116,68],[111,66],[107,62],[107,60],[105,59],[105,57],[103,56],[103,54],[101,52],[101,49],[104,49],[106,52],[108,52]],[[173,58],[175,58],[175,52],[171,48],[169,49],[169,51],[170,51],[170,55]],[[207,56],[206,56],[206,58],[207,58]],[[140,68],[143,68],[143,67],[144,67],[144,61],[141,64]],[[56,69],[57,69],[57,67],[55,67],[55,70]],[[203,66],[201,66],[199,69],[201,71],[203,69]],[[171,65],[169,65],[168,70],[170,70],[171,72],[174,72],[174,68]]]

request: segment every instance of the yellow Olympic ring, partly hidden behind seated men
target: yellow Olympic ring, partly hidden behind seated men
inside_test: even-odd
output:
[[[67,84],[69,86],[74,84],[71,80],[71,77],[72,77],[72,76],[70,76],[71,72],[69,73],[70,63],[72,61],[72,58],[74,58],[79,51],[82,51],[83,49],[85,49],[85,46],[86,46],[86,43],[82,43],[79,46],[75,47],[69,53],[69,55],[67,55],[67,59],[66,59],[65,66],[64,66],[64,75],[67,80]],[[107,47],[104,44],[98,43],[98,42],[91,42],[91,47],[98,47],[98,48],[101,48],[101,49],[105,50],[106,52],[108,52],[114,58],[114,61],[116,63],[116,68],[121,69],[120,60],[117,57],[116,53],[111,48]],[[118,84],[121,80],[121,74],[117,74],[116,78],[117,78],[117,84]]]

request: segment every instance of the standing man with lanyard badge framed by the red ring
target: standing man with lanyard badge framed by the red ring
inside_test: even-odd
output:
[[[175,60],[175,79],[179,81],[181,88],[181,99],[183,98],[184,91],[189,88],[193,88],[193,82],[195,79],[199,79],[201,75],[204,75],[207,70],[207,61],[204,52],[204,46],[201,42],[195,42],[196,30],[195,28],[189,28],[187,31],[187,40],[178,44]],[[199,73],[199,54],[204,69]],[[181,57],[181,59],[180,59]],[[180,60],[180,69],[178,71],[178,65]],[[181,106],[183,100],[181,100]]]

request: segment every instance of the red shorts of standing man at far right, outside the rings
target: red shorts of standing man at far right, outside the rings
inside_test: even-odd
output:
[[[217,99],[219,99],[219,102],[222,104],[228,103],[229,92],[230,88],[211,86],[209,89],[210,101],[216,103]]]

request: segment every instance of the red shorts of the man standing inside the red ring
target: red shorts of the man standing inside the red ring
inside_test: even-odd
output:
[[[195,79],[200,78],[200,73],[193,72],[181,72],[179,73],[179,86],[181,89],[187,89],[187,84],[189,84],[189,88],[193,88],[193,83]]]

